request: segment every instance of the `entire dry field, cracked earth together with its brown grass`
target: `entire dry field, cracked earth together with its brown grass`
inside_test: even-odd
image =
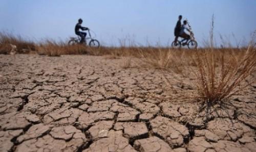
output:
[[[256,151],[253,48],[18,44],[35,51],[0,55],[0,151]]]

